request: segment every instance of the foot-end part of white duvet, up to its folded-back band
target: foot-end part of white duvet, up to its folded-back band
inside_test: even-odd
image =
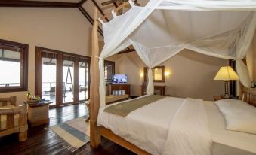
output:
[[[168,136],[169,123],[183,102],[184,99],[165,97],[132,111],[127,117],[106,113],[100,108],[97,125],[110,129],[149,153],[160,154]]]

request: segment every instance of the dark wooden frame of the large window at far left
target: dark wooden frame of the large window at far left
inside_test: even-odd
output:
[[[21,92],[28,90],[28,56],[29,56],[29,45],[17,43],[14,41],[7,41],[0,39],[0,44],[6,46],[6,48],[14,47],[22,49],[20,51],[20,86],[14,87],[0,87],[0,93],[8,92]]]

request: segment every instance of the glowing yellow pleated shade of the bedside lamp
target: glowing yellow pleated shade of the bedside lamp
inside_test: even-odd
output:
[[[221,67],[221,69],[217,72],[214,80],[221,81],[230,81],[230,80],[238,80],[238,75],[230,66]]]

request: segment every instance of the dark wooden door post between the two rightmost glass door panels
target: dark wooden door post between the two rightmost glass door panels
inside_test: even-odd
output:
[[[74,62],[74,103],[79,102],[79,56],[75,56]]]

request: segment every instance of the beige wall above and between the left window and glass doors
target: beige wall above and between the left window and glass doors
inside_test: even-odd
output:
[[[29,90],[35,89],[35,46],[91,56],[91,23],[78,8],[0,8],[0,38],[29,44]],[[4,73],[1,73],[4,74]],[[0,93],[17,96],[26,92]]]

